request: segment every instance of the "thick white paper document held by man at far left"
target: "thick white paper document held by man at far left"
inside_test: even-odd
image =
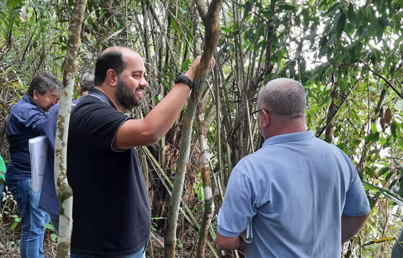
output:
[[[49,141],[46,136],[38,136],[28,140],[31,158],[32,189],[34,191],[42,189],[48,145]]]

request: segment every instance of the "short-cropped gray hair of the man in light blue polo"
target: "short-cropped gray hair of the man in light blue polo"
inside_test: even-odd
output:
[[[272,80],[259,92],[257,108],[285,115],[288,118],[305,116],[306,96],[300,82],[288,78]]]

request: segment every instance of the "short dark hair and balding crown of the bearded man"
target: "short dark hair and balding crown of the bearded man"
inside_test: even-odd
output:
[[[114,70],[117,74],[121,74],[126,68],[124,56],[133,52],[139,54],[136,50],[122,46],[113,46],[105,49],[98,56],[95,65],[95,86],[100,86],[105,81],[106,72],[109,69]]]

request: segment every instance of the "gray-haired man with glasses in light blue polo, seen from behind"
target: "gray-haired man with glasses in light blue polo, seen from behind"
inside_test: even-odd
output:
[[[239,248],[251,225],[245,257],[340,257],[341,244],[364,226],[370,208],[357,170],[306,131],[305,106],[292,79],[260,91],[252,114],[265,142],[231,172],[218,215],[221,247]]]

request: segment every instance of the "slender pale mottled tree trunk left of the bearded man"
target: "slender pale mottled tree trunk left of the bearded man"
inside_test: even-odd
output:
[[[54,148],[54,184],[60,209],[57,257],[65,258],[70,257],[70,243],[73,229],[73,191],[67,181],[66,175],[67,140],[78,42],[86,5],[87,0],[77,0],[74,4],[72,19],[70,21]]]

